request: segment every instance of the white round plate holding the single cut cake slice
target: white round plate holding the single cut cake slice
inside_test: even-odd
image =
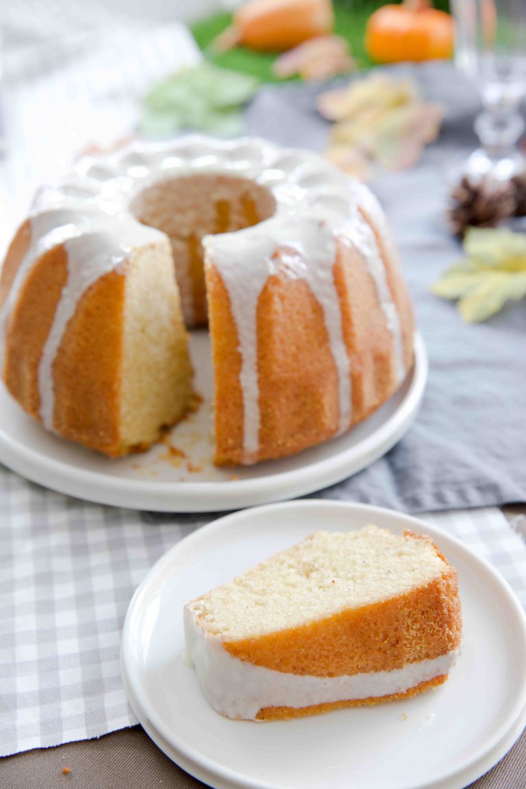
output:
[[[218,715],[183,659],[182,607],[316,529],[427,533],[457,567],[463,651],[437,690],[373,707],[255,724]],[[166,553],[132,598],[121,644],[129,700],[165,753],[215,789],[463,789],[526,723],[526,616],[458,540],[392,510],[300,501],[244,510]]]

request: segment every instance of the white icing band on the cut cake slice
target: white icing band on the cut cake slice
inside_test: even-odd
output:
[[[185,657],[196,669],[212,707],[228,718],[256,720],[266,707],[308,707],[333,701],[405,693],[409,688],[447,674],[457,652],[422,660],[394,671],[339,677],[288,674],[246,663],[230,655],[220,638],[205,634],[192,608],[184,613]]]

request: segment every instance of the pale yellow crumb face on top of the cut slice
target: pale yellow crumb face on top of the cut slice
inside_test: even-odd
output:
[[[192,603],[224,641],[259,638],[426,587],[451,571],[429,537],[317,532]]]

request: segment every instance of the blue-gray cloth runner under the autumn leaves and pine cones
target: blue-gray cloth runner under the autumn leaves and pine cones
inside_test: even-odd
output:
[[[453,304],[429,290],[461,256],[444,212],[453,167],[476,147],[476,92],[449,63],[394,70],[412,74],[429,99],[446,106],[442,134],[421,163],[374,184],[401,249],[430,377],[420,415],[401,443],[321,495],[410,512],[525,501],[526,303],[468,326]],[[329,125],[315,110],[318,91],[300,84],[264,88],[248,110],[249,133],[323,150]]]

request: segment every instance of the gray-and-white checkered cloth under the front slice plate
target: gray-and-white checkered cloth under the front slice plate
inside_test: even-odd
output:
[[[100,507],[0,467],[0,756],[136,724],[119,665],[129,600],[215,517]],[[526,607],[526,545],[499,510],[424,517],[493,563]]]

